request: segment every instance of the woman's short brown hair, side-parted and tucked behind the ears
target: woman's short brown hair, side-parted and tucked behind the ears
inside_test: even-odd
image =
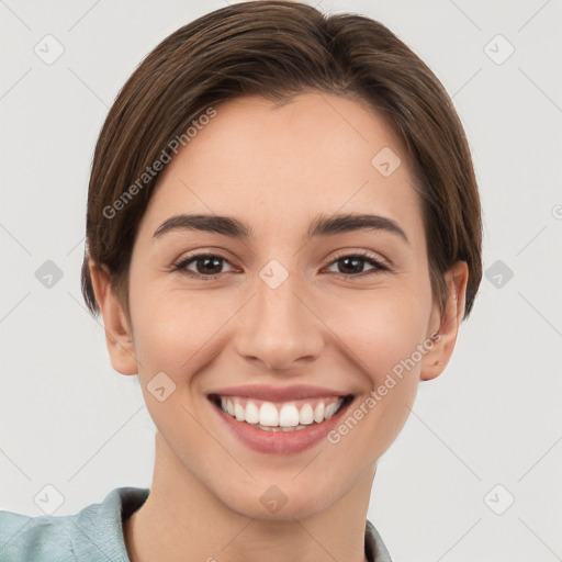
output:
[[[151,166],[171,159],[170,140],[222,102],[305,91],[367,103],[393,125],[423,200],[434,299],[442,308],[443,273],[467,261],[469,315],[482,278],[481,206],[469,145],[445,88],[381,23],[279,0],[228,5],[184,25],[120,91],[95,146],[88,192],[82,294],[92,314],[99,307],[90,259],[109,269],[128,314],[131,255],[158,179]]]

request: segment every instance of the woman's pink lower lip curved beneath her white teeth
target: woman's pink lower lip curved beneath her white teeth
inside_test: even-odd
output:
[[[311,424],[304,429],[293,431],[259,429],[246,422],[238,422],[235,417],[223,412],[214,402],[212,402],[212,405],[234,435],[250,449],[270,454],[294,454],[314,447],[326,438],[339,424],[339,418],[351,403],[352,401],[349,401],[344,404],[334,416],[321,424]]]

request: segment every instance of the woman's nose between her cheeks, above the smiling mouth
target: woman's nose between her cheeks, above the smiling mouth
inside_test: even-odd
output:
[[[240,311],[236,349],[271,371],[288,371],[317,359],[324,348],[322,322],[306,292],[289,278],[277,289],[257,279],[256,293]]]

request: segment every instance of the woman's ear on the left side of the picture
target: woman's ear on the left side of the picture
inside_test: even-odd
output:
[[[111,364],[121,374],[137,374],[133,331],[123,305],[112,291],[111,273],[105,266],[100,266],[92,260],[88,267],[95,301],[103,316],[105,342]]]

